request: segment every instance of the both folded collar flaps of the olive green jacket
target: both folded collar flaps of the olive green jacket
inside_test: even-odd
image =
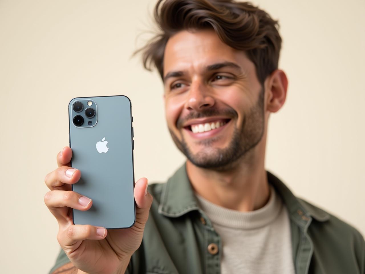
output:
[[[312,218],[320,222],[328,220],[329,215],[326,212],[295,197],[280,179],[269,171],[266,172],[269,183],[283,199],[289,216],[298,225],[307,227]],[[158,212],[166,217],[180,217],[193,210],[199,210],[199,206],[184,164],[164,185]]]

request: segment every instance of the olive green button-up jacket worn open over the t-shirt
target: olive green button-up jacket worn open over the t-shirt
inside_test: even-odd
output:
[[[365,274],[361,234],[295,197],[270,172],[267,176],[288,209],[296,273]],[[127,273],[220,273],[222,241],[198,207],[185,165],[167,183],[151,184],[149,192],[154,197],[150,216],[141,247],[133,254]],[[51,271],[68,262],[61,251]]]

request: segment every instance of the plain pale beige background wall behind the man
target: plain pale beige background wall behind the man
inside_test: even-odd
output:
[[[1,273],[46,273],[57,223],[45,175],[68,145],[68,102],[131,98],[135,175],[164,181],[184,161],[166,129],[157,73],[130,58],[155,0],[0,0]],[[254,1],[280,19],[284,108],[266,166],[301,197],[365,234],[364,1]]]

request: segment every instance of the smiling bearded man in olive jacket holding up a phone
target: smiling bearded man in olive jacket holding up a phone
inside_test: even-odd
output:
[[[143,61],[161,74],[166,121],[187,162],[148,191],[139,179],[135,225],[107,231],[72,224],[70,209],[92,202],[70,191],[82,174],[62,149],[45,178],[62,247],[51,273],[364,274],[360,233],[265,171],[269,115],[288,85],[277,22],[233,0],[160,0],[155,19],[161,34]]]

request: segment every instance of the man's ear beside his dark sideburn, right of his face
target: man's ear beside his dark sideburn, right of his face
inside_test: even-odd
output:
[[[268,90],[266,109],[274,113],[281,109],[287,98],[288,78],[284,71],[276,69],[266,80]]]

